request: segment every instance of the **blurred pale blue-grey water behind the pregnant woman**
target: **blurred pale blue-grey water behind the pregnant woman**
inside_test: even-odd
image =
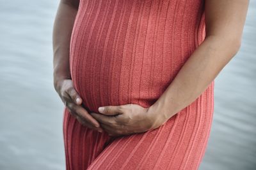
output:
[[[0,169],[65,169],[63,104],[52,83],[59,1],[0,0]],[[256,169],[256,1],[237,55],[215,79],[201,170]]]

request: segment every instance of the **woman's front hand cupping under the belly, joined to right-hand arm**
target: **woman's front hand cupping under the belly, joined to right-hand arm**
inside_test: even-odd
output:
[[[109,136],[125,136],[154,129],[156,118],[148,112],[148,108],[138,104],[103,108],[102,111],[99,109],[100,113],[91,113],[91,115],[100,122],[100,127],[108,132]]]

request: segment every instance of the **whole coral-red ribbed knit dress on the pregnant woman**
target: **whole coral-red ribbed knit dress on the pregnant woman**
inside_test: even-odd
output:
[[[70,41],[74,87],[88,111],[149,107],[205,38],[201,0],[80,0]],[[67,169],[198,169],[210,134],[214,81],[161,127],[113,138],[64,108]]]

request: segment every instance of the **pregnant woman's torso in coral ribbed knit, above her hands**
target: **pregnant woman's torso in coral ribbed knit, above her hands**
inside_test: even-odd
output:
[[[90,111],[147,107],[204,38],[201,0],[81,0],[70,42],[72,80]]]

